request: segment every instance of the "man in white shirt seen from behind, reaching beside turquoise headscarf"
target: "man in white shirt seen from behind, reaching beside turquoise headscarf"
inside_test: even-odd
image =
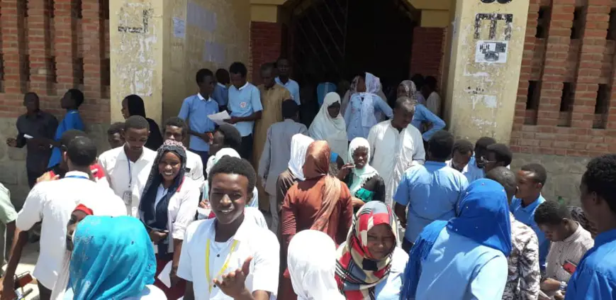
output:
[[[50,299],[51,289],[60,271],[65,254],[67,223],[75,206],[84,199],[106,203],[116,195],[91,177],[90,165],[96,162],[96,145],[87,137],[74,138],[62,147],[62,160],[69,172],[62,179],[39,182],[28,194],[16,220],[16,237],[3,281],[1,299],[14,299],[14,275],[21,251],[28,241],[28,230],[43,222],[40,234],[40,254],[33,276],[38,280],[40,299]],[[117,199],[121,201],[120,199]]]

